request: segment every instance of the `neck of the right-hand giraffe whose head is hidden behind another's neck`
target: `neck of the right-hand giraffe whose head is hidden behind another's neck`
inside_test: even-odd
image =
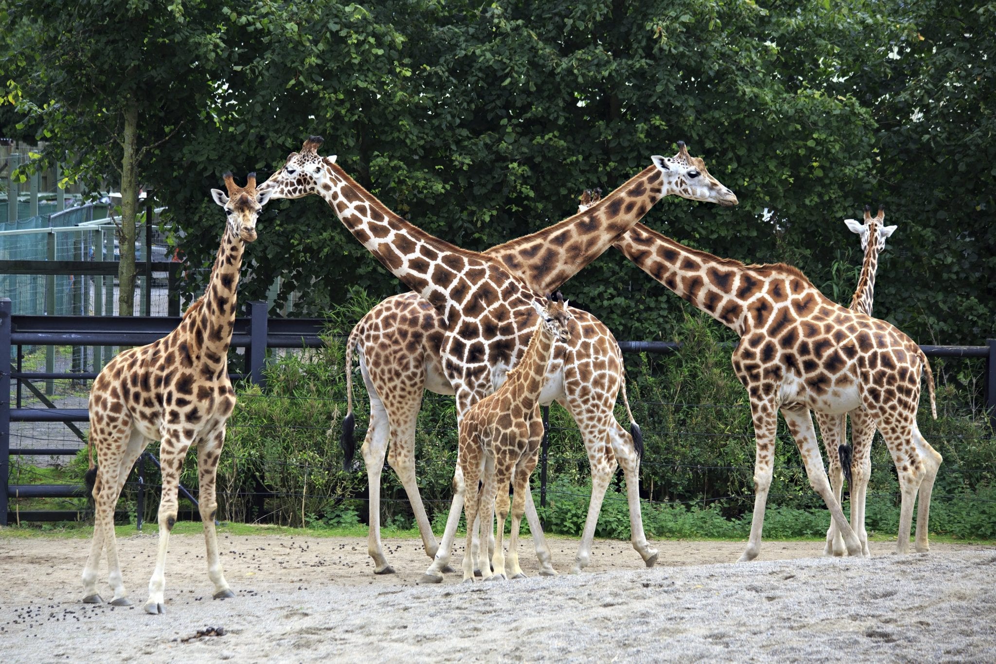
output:
[[[795,298],[808,308],[826,300],[796,268],[745,266],[685,247],[642,224],[616,247],[640,270],[741,336],[766,324],[776,303]],[[767,297],[756,298],[760,293]]]

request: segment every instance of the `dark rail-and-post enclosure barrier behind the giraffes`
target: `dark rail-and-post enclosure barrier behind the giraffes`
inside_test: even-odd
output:
[[[320,347],[324,344],[321,333],[325,322],[320,319],[271,319],[265,302],[250,302],[246,309],[248,316],[238,318],[232,334],[232,347],[243,347],[245,351],[245,372],[230,373],[233,380],[249,379],[263,385],[266,362],[266,348]],[[86,408],[56,408],[47,399],[48,408],[21,407],[20,392],[16,407],[11,407],[11,379],[30,385],[31,380],[51,380],[59,378],[92,379],[96,372],[39,372],[23,371],[11,366],[11,350],[21,358],[21,347],[25,345],[143,345],[172,332],[179,324],[178,317],[57,317],[57,316],[12,316],[11,302],[0,299],[0,525],[6,526],[15,515],[8,510],[10,498],[75,498],[84,495],[77,485],[10,485],[11,455],[76,455],[78,450],[65,448],[15,448],[10,447],[11,422],[63,422],[75,427],[75,422],[87,422]],[[623,352],[671,353],[680,348],[674,341],[620,341]],[[996,420],[996,339],[988,339],[986,345],[920,346],[928,357],[974,357],[985,358],[985,405],[991,422]],[[34,390],[33,390],[34,391]],[[36,395],[40,395],[35,391]],[[540,458],[540,504],[547,504],[548,463],[550,430],[549,409],[543,409],[544,437]],[[82,432],[76,429],[83,439]],[[139,458],[139,471],[151,454]],[[138,500],[142,498],[143,480],[139,472]],[[259,488],[257,488],[259,489]],[[248,492],[262,502],[267,492]],[[247,495],[248,495],[247,494]],[[184,497],[196,505],[196,501],[184,490]],[[383,500],[383,499],[381,499]],[[138,506],[139,519],[141,506]],[[23,511],[17,515],[20,521],[73,520],[79,515],[68,511]]]

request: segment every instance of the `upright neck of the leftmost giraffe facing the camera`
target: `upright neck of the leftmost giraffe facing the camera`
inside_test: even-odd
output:
[[[200,359],[205,375],[217,374],[227,368],[244,250],[242,239],[226,230],[207,289],[184,317],[188,325],[187,346],[193,356]]]

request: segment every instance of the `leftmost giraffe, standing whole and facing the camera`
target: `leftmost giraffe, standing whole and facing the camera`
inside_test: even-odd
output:
[[[187,449],[197,447],[200,518],[204,524],[207,573],[214,598],[234,597],[228,587],[214,529],[217,510],[215,473],[225,442],[225,423],[235,407],[228,379],[228,345],[235,323],[236,286],[246,242],[256,239],[256,219],[270,197],[256,189],[250,173],[239,187],[224,175],[228,193],[212,189],[214,201],[227,216],[211,278],[203,296],[183,315],[173,332],[157,341],[129,348],[111,360],[90,392],[90,470],[88,485],[95,501],[94,539],[83,571],[87,603],[103,601],[97,592],[101,555],[108,553],[111,603],[126,606],[114,514],[131,466],[149,441],[159,440],[162,497],[159,500],[159,546],[155,570],[148,581],[148,613],[165,613],[166,547],[176,523],[176,489]],[[94,464],[97,452],[98,465]]]

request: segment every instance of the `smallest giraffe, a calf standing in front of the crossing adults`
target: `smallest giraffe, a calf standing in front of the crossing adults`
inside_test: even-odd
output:
[[[558,294],[559,296],[559,294]],[[460,449],[457,455],[469,495],[463,509],[467,523],[466,554],[463,556],[463,580],[474,580],[474,529],[480,513],[482,528],[493,533],[492,511],[498,514],[498,534],[490,564],[482,564],[481,578],[523,578],[519,566],[519,524],[526,511],[529,476],[539,461],[543,441],[543,415],[540,394],[546,383],[547,364],[553,354],[554,341],[567,341],[571,332],[571,315],[563,298],[552,298],[546,308],[533,301],[539,314],[522,359],[508,372],[497,390],[467,409],[459,425]],[[478,479],[483,486],[478,488]],[[508,488],[512,485],[512,531],[506,574],[503,539],[508,517]],[[489,533],[490,539],[491,533]]]

